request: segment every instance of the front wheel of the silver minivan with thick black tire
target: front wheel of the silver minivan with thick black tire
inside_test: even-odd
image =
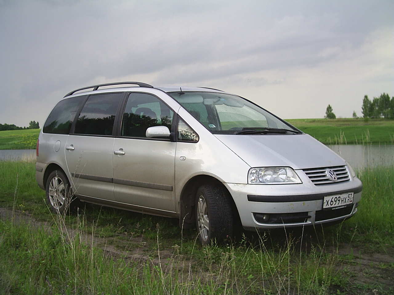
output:
[[[197,189],[195,217],[202,245],[233,238],[234,214],[230,198],[225,188],[215,184],[204,184]]]

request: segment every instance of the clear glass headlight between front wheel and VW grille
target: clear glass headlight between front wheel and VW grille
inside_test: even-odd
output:
[[[290,167],[251,168],[248,173],[249,184],[296,184],[302,183],[296,171]]]

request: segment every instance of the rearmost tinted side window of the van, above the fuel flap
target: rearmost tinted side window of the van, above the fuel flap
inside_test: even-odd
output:
[[[69,134],[75,114],[85,98],[76,96],[59,101],[46,119],[43,133]]]

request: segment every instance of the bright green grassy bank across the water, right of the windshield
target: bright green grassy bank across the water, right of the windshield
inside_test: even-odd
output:
[[[394,120],[345,118],[286,121],[323,144],[394,144]]]

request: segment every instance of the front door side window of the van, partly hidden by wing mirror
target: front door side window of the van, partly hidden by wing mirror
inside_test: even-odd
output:
[[[156,96],[130,93],[123,113],[121,135],[146,137],[152,126],[167,126],[171,130],[174,112]]]

